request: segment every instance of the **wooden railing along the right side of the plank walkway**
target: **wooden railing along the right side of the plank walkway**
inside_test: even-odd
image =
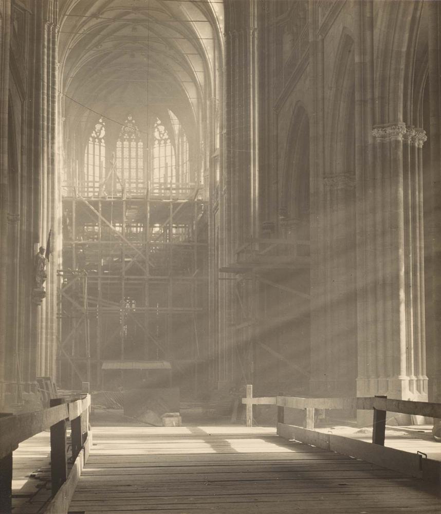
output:
[[[427,458],[423,452],[410,453],[384,446],[386,413],[394,412],[414,416],[441,419],[441,403],[427,401],[395,400],[385,396],[359,398],[300,398],[273,396],[253,398],[252,386],[247,386],[247,427],[252,426],[253,405],[277,406],[278,435],[330,451],[343,453],[379,466],[401,471],[435,483],[441,487],[441,461]],[[285,423],[285,409],[301,409],[305,412],[304,427]],[[314,430],[315,409],[320,410],[367,410],[372,411],[372,443]]]

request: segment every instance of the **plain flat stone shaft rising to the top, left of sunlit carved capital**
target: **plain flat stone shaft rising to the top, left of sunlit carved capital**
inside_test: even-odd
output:
[[[376,369],[371,353],[380,327],[375,324],[376,226],[381,216],[375,205],[374,166],[374,23],[373,2],[354,4],[355,50],[355,173],[357,223],[357,395],[370,390]],[[374,300],[369,300],[370,298]],[[369,420],[368,420],[369,422]]]

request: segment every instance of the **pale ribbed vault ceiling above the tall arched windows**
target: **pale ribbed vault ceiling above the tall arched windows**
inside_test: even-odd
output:
[[[197,122],[221,58],[222,2],[64,0],[59,20],[60,89],[78,115],[167,105]]]

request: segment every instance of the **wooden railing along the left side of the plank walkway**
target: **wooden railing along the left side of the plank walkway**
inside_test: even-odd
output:
[[[45,513],[67,512],[71,493],[91,445],[89,424],[90,395],[65,402],[50,400],[50,407],[25,414],[0,414],[0,513],[12,512],[13,452],[20,443],[50,428],[50,473],[52,499]],[[66,422],[70,421],[71,461],[67,472]]]

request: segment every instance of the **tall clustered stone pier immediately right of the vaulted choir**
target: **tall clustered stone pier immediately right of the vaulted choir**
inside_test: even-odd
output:
[[[246,0],[238,6],[234,0],[225,3],[226,19],[226,159],[225,159],[225,233],[219,243],[226,245],[226,265],[236,262],[236,249],[250,236],[258,235],[259,169],[258,169],[258,49],[257,2]],[[227,296],[224,305],[225,325],[219,340],[225,341],[231,352],[219,352],[218,358],[233,362],[218,362],[219,369],[238,369],[235,352],[243,345],[252,345],[253,335],[236,331],[232,326],[241,322],[241,307],[234,287],[234,276],[223,288]],[[247,289],[247,301],[254,301],[252,288]],[[238,335],[238,333],[244,333]],[[251,371],[249,379],[251,379]],[[242,375],[242,372],[241,372]],[[239,378],[239,377],[237,377]]]

